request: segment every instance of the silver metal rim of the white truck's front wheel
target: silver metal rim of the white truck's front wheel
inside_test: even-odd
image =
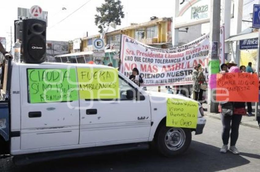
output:
[[[180,149],[185,142],[185,132],[181,128],[170,128],[165,134],[165,145],[170,150]]]

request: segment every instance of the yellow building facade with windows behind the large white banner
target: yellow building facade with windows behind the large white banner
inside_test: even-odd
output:
[[[105,44],[120,42],[121,34],[125,34],[142,43],[158,48],[169,48],[172,43],[172,18],[151,17],[145,23],[131,23],[131,26],[105,33]],[[82,51],[92,51],[93,38],[100,38],[100,35],[93,35],[82,38]]]

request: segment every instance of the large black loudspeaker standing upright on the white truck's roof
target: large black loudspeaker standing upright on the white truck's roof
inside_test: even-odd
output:
[[[23,20],[22,60],[24,63],[46,61],[46,22],[38,19]]]

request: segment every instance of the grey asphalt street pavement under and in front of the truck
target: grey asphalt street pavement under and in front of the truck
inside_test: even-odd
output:
[[[180,156],[166,158],[154,150],[67,158],[16,167],[10,158],[0,160],[0,171],[84,172],[193,172],[260,171],[260,130],[240,125],[240,155],[221,154],[221,121],[206,117],[201,135],[192,135],[190,148]]]

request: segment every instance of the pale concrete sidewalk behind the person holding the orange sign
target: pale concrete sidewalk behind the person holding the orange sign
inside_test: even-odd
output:
[[[207,109],[207,104],[203,103],[202,106],[203,106],[204,109]],[[252,109],[253,109],[253,112],[254,112],[254,106],[253,105],[252,105]],[[211,118],[215,118],[215,119],[221,120],[221,116],[220,116],[221,114],[220,113],[208,113],[207,111],[204,111],[204,115],[205,116],[209,116]],[[259,129],[259,125],[258,125],[257,121],[254,120],[254,116],[244,115],[242,117],[242,120],[241,120],[240,124],[244,125],[244,126],[247,126],[247,127],[253,127],[253,128]]]

